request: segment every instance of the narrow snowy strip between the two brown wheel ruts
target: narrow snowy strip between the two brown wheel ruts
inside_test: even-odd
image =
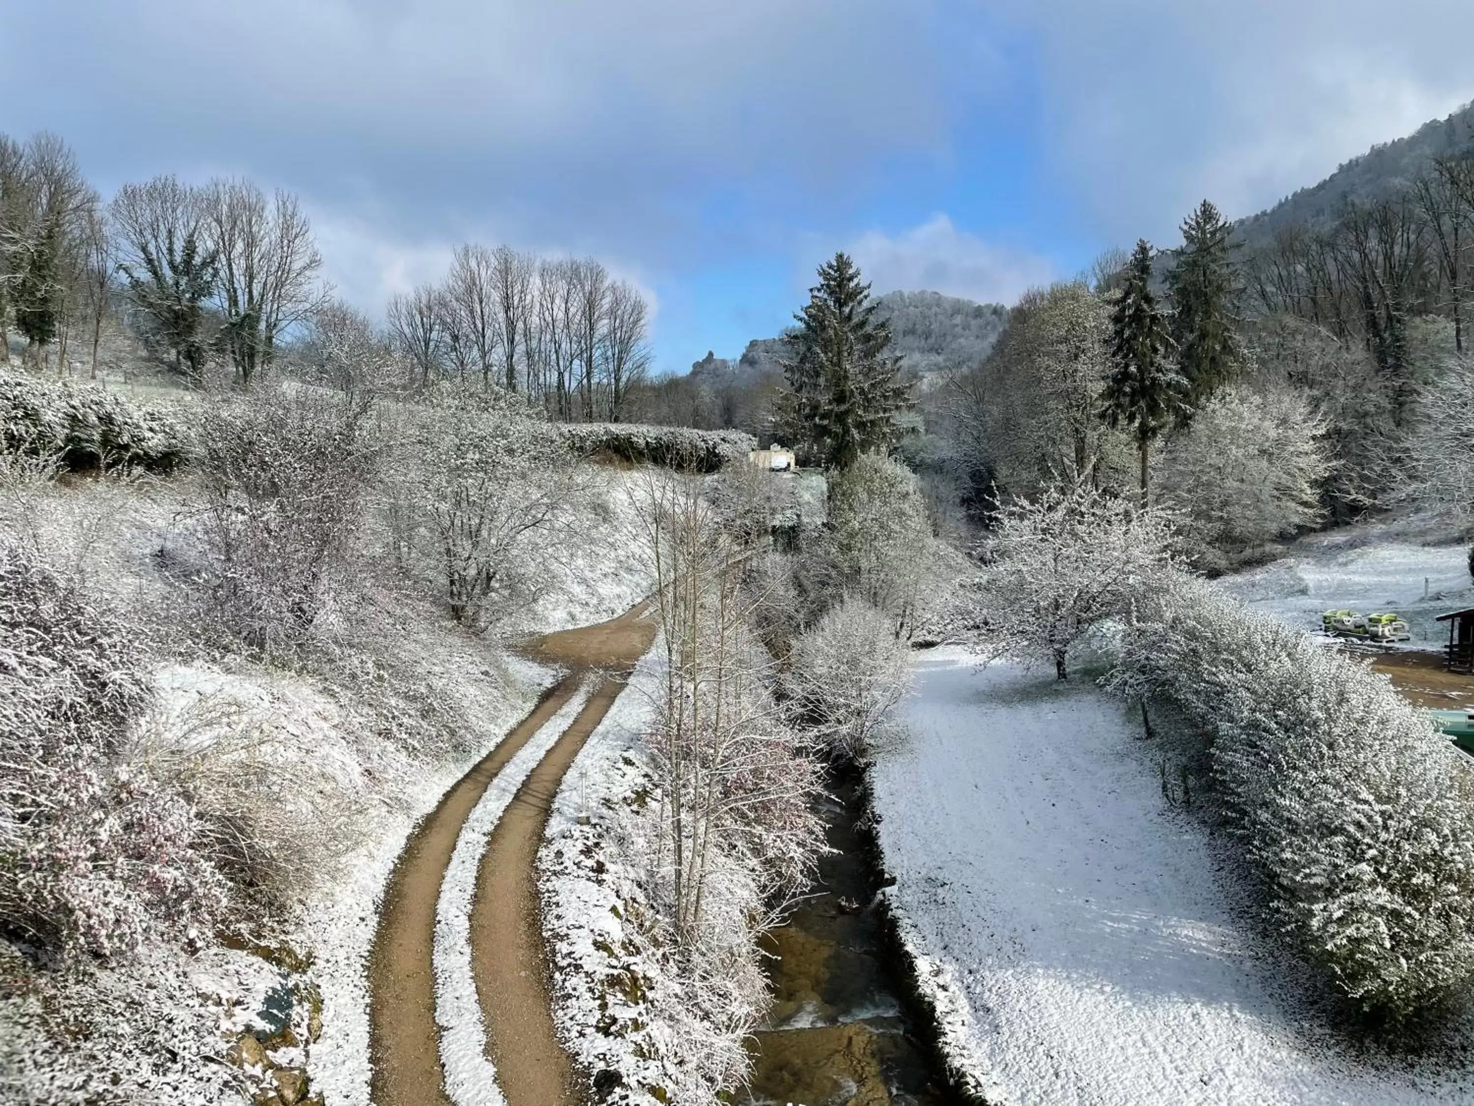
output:
[[[470,908],[481,858],[517,789],[584,709],[593,689],[594,683],[585,681],[497,773],[461,826],[441,883],[435,904],[435,1020],[441,1028],[445,1090],[457,1106],[506,1106],[497,1068],[486,1056],[486,1025],[470,963]]]

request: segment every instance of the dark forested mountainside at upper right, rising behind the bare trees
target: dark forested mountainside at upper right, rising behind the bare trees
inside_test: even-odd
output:
[[[1430,158],[1456,153],[1474,146],[1474,103],[1459,108],[1445,119],[1425,122],[1405,139],[1372,146],[1352,158],[1319,184],[1300,189],[1269,211],[1238,221],[1250,246],[1274,237],[1276,230],[1300,226],[1318,230],[1335,220],[1347,199],[1374,202],[1405,189],[1427,167]]]

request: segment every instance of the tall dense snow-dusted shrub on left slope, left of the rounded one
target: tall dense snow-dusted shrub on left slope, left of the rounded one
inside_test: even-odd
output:
[[[371,406],[261,388],[209,407],[196,462],[211,611],[246,644],[292,649],[320,628],[376,478]]]

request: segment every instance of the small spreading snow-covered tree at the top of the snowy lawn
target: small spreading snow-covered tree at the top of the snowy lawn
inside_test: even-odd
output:
[[[1014,500],[999,510],[983,596],[999,649],[1054,662],[1101,619],[1123,613],[1142,585],[1170,568],[1172,516],[1107,495],[1083,479]]]

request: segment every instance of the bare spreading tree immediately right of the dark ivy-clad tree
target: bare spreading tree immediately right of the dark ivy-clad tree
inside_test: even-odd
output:
[[[296,196],[267,199],[246,180],[215,180],[203,198],[211,246],[220,258],[224,347],[242,388],[271,366],[277,341],[324,302],[323,267]]]

